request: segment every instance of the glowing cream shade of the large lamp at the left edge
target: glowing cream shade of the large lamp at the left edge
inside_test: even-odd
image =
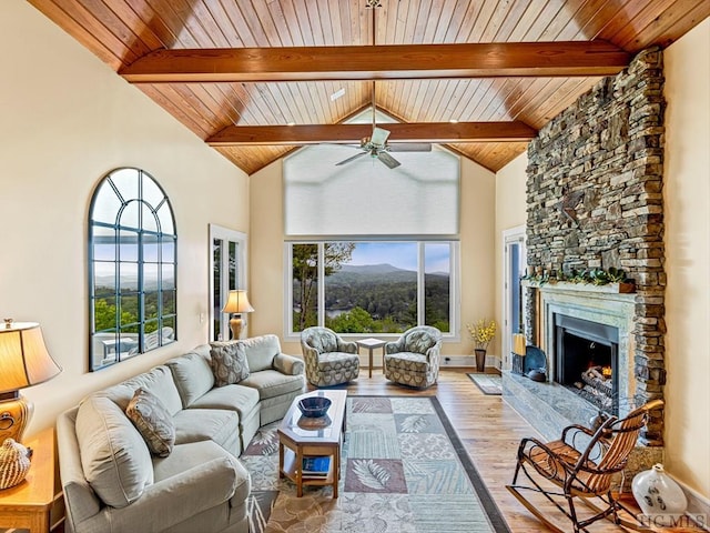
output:
[[[62,369],[47,351],[37,322],[0,326],[0,395],[51,380]]]

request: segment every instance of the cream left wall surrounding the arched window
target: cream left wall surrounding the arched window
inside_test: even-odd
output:
[[[206,341],[207,224],[248,231],[248,182],[22,0],[0,2],[0,316],[40,322],[63,368],[23,391],[36,405],[31,435],[85,393]],[[90,373],[89,201],[124,165],[150,172],[175,213],[179,341]]]

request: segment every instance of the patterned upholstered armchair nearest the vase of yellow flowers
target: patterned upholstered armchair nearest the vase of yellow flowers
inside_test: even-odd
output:
[[[385,344],[385,378],[395,383],[427,388],[439,376],[442,332],[419,325]]]

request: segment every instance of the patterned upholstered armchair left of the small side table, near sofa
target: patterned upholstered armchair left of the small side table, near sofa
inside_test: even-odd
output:
[[[346,342],[328,328],[306,328],[301,332],[306,379],[315,386],[347,383],[359,374],[357,344]]]

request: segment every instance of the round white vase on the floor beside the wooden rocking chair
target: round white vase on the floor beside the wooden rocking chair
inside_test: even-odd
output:
[[[682,489],[666,474],[662,464],[655,464],[651,470],[636,474],[631,492],[653,525],[672,525],[688,506]]]

